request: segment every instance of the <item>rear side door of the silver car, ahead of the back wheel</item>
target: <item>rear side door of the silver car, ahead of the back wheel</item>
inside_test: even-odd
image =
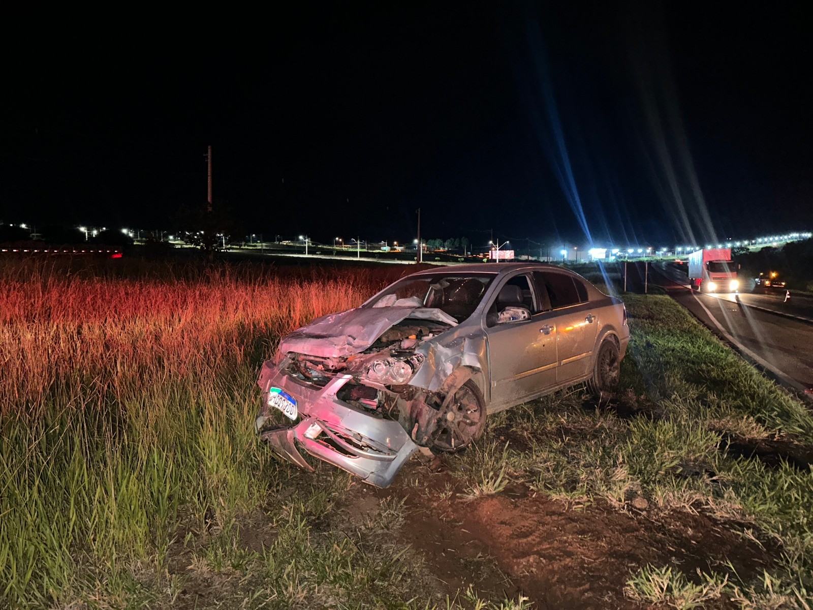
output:
[[[556,328],[556,381],[585,377],[592,370],[598,318],[578,277],[556,270],[533,272],[537,291],[546,290]]]

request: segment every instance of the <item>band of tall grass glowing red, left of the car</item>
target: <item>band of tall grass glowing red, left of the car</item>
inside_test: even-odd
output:
[[[405,270],[159,266],[139,278],[0,266],[0,410],[35,414],[55,387],[86,404],[88,391],[124,400],[145,384],[216,375]]]

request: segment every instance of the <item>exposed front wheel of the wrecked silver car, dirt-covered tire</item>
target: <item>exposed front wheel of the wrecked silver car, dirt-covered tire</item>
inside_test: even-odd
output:
[[[428,444],[436,453],[465,449],[485,430],[485,400],[471,379],[454,393],[444,419],[437,425]]]

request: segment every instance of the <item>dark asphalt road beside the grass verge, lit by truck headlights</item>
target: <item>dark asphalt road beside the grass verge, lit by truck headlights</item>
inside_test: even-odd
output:
[[[698,294],[689,288],[685,272],[672,264],[654,264],[650,269],[653,284],[662,286],[741,354],[793,390],[804,394],[813,388],[813,299],[791,293],[785,303],[785,294]],[[813,394],[806,393],[806,398]]]

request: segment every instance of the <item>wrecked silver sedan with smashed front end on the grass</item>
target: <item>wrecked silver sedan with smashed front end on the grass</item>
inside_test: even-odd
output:
[[[584,382],[610,390],[628,342],[624,303],[567,269],[418,272],[285,337],[259,376],[256,429],[293,464],[311,468],[305,451],[386,487],[419,447],[474,442],[489,413]]]

